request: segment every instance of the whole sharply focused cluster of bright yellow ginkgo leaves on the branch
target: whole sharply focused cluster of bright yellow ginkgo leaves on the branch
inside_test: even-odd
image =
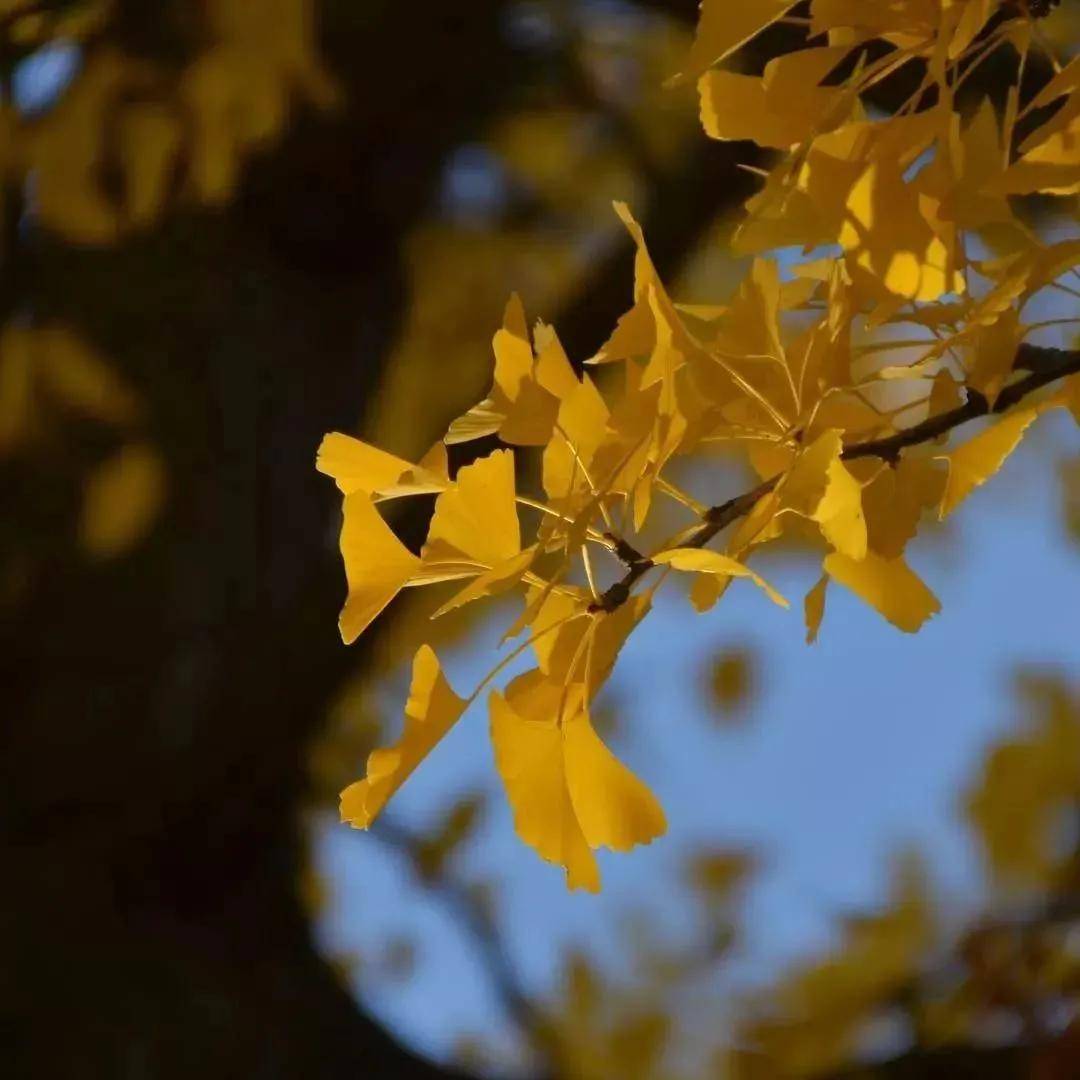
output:
[[[343,820],[370,825],[469,705],[531,649],[536,667],[489,694],[496,765],[521,837],[565,867],[571,888],[595,890],[594,849],[627,850],[664,828],[651,794],[590,720],[661,582],[685,575],[699,611],[737,578],[786,606],[747,561],[793,535],[822,552],[805,604],[810,640],[831,581],[917,631],[939,610],[905,558],[923,513],[955,510],[1042,411],[1066,407],[1080,420],[1074,375],[950,451],[933,445],[941,431],[912,434],[970,394],[994,407],[1038,325],[1024,320],[1028,301],[1048,288],[1078,295],[1062,279],[1080,262],[1080,240],[1040,242],[1007,198],[1067,194],[1080,184],[1068,134],[1080,100],[1076,62],[1023,106],[1012,87],[1000,122],[988,102],[961,116],[957,90],[975,65],[999,49],[1024,57],[1032,48],[1027,17],[991,0],[813,0],[805,49],[761,77],[712,67],[791,6],[705,0],[687,73],[700,76],[711,135],[786,151],[747,203],[739,249],[826,245],[833,255],[797,264],[789,280],[775,258],[757,256],[729,302],[679,305],[629,207],[617,204],[636,246],[633,305],[584,361],[597,377],[570,363],[551,326],[538,322],[530,333],[515,296],[495,335],[489,393],[443,440],[498,436],[538,450],[537,496],[518,492],[509,448],[451,477],[442,444],[414,464],[326,436],[319,468],[345,495],[346,642],[405,588],[465,582],[436,616],[511,591],[523,600],[507,639],[524,640],[467,698],[420,649],[404,732],[345,792]],[[886,44],[880,58],[868,58],[869,42]],[[919,92],[894,114],[869,119],[863,95],[907,64],[920,65]],[[1049,119],[1015,145],[1021,121],[1043,106]],[[975,240],[990,238],[995,257],[969,256]],[[902,362],[889,363],[890,352]],[[717,446],[742,455],[764,483],[707,510],[665,474],[676,459]],[[437,496],[419,554],[378,509],[414,494]],[[691,519],[648,543],[646,556],[638,546],[659,499]],[[539,515],[528,544],[519,508]],[[735,527],[725,550],[705,549],[727,525]]]

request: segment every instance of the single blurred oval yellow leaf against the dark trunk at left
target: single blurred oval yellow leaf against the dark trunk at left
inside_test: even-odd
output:
[[[127,551],[149,531],[165,492],[165,469],[146,443],[130,443],[86,481],[79,544],[94,558]]]

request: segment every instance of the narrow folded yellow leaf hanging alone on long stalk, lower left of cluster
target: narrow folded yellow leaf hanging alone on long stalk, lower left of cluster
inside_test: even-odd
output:
[[[458,721],[467,704],[446,680],[432,648],[421,645],[413,660],[401,739],[368,755],[365,778],[341,793],[341,821],[369,828],[387,800]]]

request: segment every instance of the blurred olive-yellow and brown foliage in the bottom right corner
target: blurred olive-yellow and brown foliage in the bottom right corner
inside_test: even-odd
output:
[[[832,1075],[901,1015],[905,1037],[930,1049],[993,1040],[1005,1017],[1076,1014],[1080,694],[1047,671],[1022,672],[1017,688],[1026,730],[987,753],[967,798],[1004,914],[975,919],[943,964],[931,897],[902,864],[888,910],[849,922],[833,955],[746,1001],[724,1052],[732,1077]]]

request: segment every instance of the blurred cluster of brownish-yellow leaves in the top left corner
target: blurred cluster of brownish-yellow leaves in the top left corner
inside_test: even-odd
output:
[[[112,4],[12,24],[24,41],[77,41],[107,29]],[[333,82],[314,52],[311,0],[211,0],[205,48],[177,71],[93,41],[81,70],[43,116],[0,104],[0,170],[32,183],[40,222],[80,243],[114,242],[152,225],[176,194],[219,204],[241,163],[284,129],[294,98],[327,106]],[[27,23],[26,21],[31,22]],[[118,183],[106,184],[112,174]]]

